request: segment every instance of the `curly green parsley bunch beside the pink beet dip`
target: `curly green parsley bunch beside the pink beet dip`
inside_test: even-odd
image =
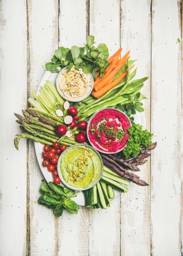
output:
[[[142,125],[133,124],[128,128],[130,138],[128,138],[127,146],[123,149],[123,154],[126,159],[135,158],[140,154],[143,147],[149,147],[152,143],[153,134],[146,129],[143,130]]]

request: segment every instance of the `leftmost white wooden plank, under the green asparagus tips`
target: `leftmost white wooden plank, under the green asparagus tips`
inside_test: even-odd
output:
[[[26,1],[3,0],[0,6],[0,254],[26,255],[26,141],[19,151],[13,145],[20,132],[13,113],[27,104]]]

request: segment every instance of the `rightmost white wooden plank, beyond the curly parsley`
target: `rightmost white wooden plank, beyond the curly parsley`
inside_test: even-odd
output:
[[[152,255],[181,255],[180,1],[152,2]],[[165,7],[166,6],[166,7]]]

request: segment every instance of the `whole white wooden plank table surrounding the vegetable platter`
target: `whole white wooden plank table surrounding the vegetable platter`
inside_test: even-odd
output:
[[[1,256],[181,255],[181,1],[1,0]],[[33,143],[19,133],[14,112],[27,106],[44,64],[58,46],[81,46],[86,35],[113,53],[131,49],[145,112],[136,121],[157,148],[142,167],[148,187],[130,185],[107,210],[82,208],[57,219],[38,205],[41,176]]]

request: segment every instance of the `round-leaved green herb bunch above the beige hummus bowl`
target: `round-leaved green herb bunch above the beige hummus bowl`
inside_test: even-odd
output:
[[[73,67],[76,69],[83,68],[84,72],[92,73],[94,79],[97,79],[96,72],[100,71],[102,76],[105,68],[109,65],[107,58],[109,51],[105,43],[94,46],[94,36],[89,35],[86,38],[84,47],[72,46],[70,49],[60,47],[55,50],[55,55],[51,61],[45,64],[45,68],[52,73],[58,73],[60,68],[68,66],[68,71]]]

